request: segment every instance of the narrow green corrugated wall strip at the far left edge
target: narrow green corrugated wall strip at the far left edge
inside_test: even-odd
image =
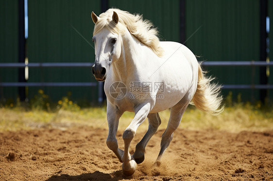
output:
[[[18,62],[18,0],[0,1],[0,22],[0,62]],[[18,69],[0,68],[0,81],[17,82]],[[17,88],[0,87],[0,101],[17,95]]]

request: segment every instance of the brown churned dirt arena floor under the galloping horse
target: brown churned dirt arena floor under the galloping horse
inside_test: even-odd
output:
[[[0,133],[3,181],[272,181],[273,131],[229,133],[219,130],[174,133],[162,163],[159,130],[146,147],[145,161],[133,176],[106,146],[107,129],[77,127]],[[138,131],[131,153],[145,131]],[[122,148],[122,133],[118,133]]]

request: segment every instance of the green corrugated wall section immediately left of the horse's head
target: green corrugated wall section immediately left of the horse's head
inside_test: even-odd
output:
[[[91,12],[100,12],[100,0],[28,0],[29,62],[94,62],[94,49],[75,31],[92,43],[94,23]],[[88,68],[32,68],[29,82],[96,81]],[[37,93],[30,88],[30,97]],[[45,87],[52,100],[72,93],[72,98],[97,101],[97,87]]]

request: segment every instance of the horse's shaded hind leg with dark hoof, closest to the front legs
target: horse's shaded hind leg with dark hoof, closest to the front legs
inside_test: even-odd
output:
[[[151,139],[151,137],[155,134],[158,126],[161,123],[158,113],[148,114],[147,118],[149,121],[148,131],[146,132],[145,136],[143,136],[141,141],[136,144],[136,151],[132,155],[137,164],[140,164],[144,161],[145,147],[149,140]]]

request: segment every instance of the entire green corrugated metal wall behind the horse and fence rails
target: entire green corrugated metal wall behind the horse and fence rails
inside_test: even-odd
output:
[[[161,40],[180,40],[180,0],[108,0],[108,7],[143,14],[158,27]],[[269,15],[272,17],[272,0]],[[17,0],[0,1],[1,62],[18,61]],[[75,27],[90,42],[94,24],[90,13],[101,13],[101,0],[28,0],[29,62],[94,62],[94,50],[72,29]],[[259,60],[259,0],[186,0],[186,39],[198,30],[186,45],[199,60]],[[8,28],[6,28],[8,27]],[[273,37],[271,23],[270,37]],[[3,40],[3,41],[2,41]],[[272,50],[272,46],[271,46]],[[273,51],[270,52],[270,58]],[[259,84],[259,68],[205,67],[222,84]],[[17,69],[0,68],[1,81],[17,82]],[[273,72],[273,67],[270,68]],[[7,76],[8,75],[8,76]],[[95,81],[90,68],[31,68],[29,82]],[[273,84],[273,76],[269,78]],[[33,97],[41,88],[29,88]],[[68,91],[75,99],[97,100],[97,88],[44,87],[53,100]],[[227,94],[229,90],[224,90]],[[3,88],[4,97],[17,95],[17,88]],[[233,90],[234,98],[241,92],[243,100],[258,99],[259,90]],[[273,93],[271,90],[271,98]]]

